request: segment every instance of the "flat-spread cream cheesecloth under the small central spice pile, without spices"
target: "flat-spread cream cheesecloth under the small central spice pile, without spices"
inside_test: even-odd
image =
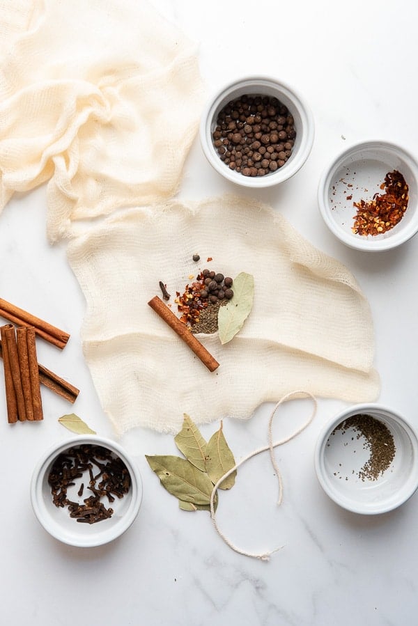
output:
[[[249,418],[295,389],[378,396],[371,312],[355,278],[266,205],[223,196],[123,210],[70,240],[68,258],[86,296],[84,354],[118,433],[178,432],[183,413],[198,424]],[[231,342],[197,335],[220,363],[213,373],[147,305],[161,280],[176,311],[176,290],[211,264],[255,284]]]

